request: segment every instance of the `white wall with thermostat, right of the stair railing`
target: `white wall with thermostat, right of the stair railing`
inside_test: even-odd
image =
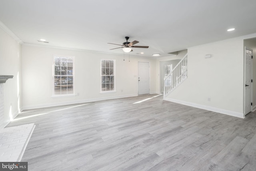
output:
[[[235,38],[188,48],[188,79],[167,99],[244,117],[243,46],[243,38]]]

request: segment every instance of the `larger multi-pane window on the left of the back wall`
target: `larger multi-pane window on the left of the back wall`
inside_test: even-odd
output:
[[[53,95],[74,94],[74,57],[54,56]]]

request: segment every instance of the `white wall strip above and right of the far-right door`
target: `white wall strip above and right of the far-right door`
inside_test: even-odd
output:
[[[253,50],[252,56],[252,110],[256,110],[256,38],[244,40],[244,46]]]

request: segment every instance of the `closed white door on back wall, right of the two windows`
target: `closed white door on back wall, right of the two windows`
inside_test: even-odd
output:
[[[149,94],[149,62],[138,62],[138,95]]]

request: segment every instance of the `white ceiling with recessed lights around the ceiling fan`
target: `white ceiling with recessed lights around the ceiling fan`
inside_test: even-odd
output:
[[[123,54],[107,43],[129,36],[149,46],[130,55],[162,57],[256,33],[256,0],[0,0],[0,21],[24,44]]]

